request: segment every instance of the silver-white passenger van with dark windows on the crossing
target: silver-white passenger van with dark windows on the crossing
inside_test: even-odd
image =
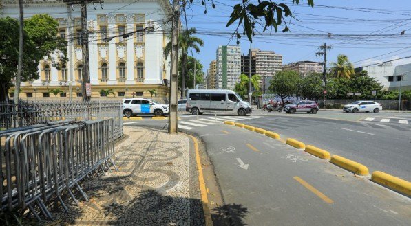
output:
[[[193,115],[202,113],[233,113],[244,116],[251,114],[251,105],[240,95],[228,89],[189,89],[187,111]]]

